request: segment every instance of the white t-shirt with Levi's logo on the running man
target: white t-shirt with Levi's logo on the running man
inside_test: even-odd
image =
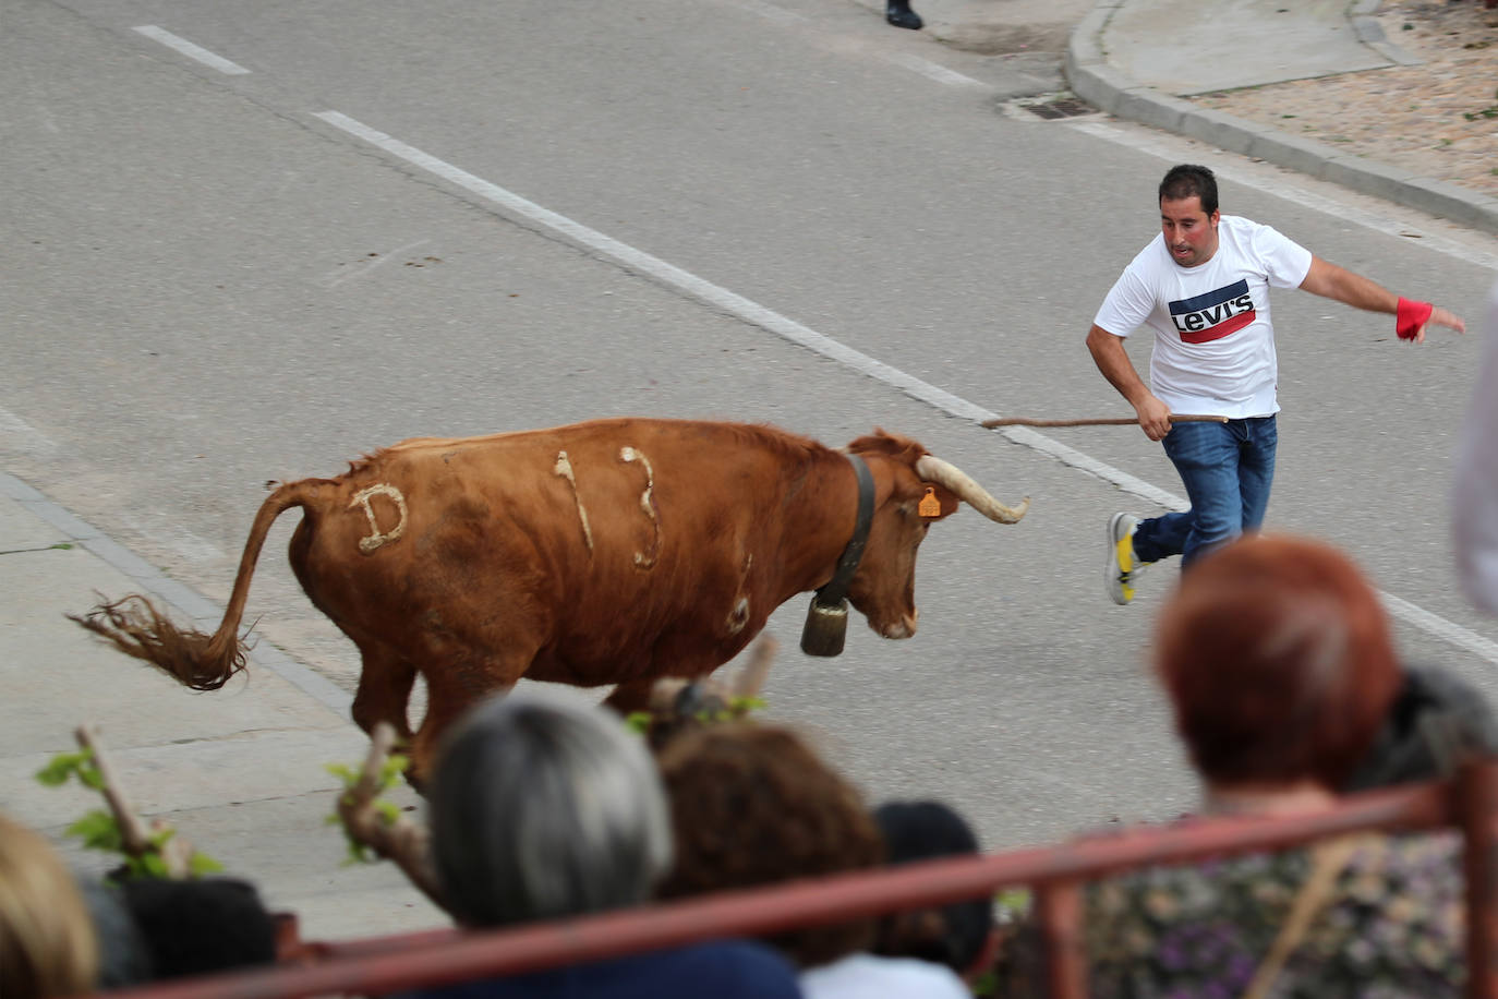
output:
[[[1180,267],[1164,234],[1140,250],[1092,321],[1126,337],[1155,331],[1149,386],[1173,413],[1243,419],[1279,412],[1269,288],[1297,288],[1311,250],[1270,226],[1218,217],[1212,259]]]

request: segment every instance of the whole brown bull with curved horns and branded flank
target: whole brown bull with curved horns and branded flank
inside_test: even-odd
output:
[[[425,677],[416,777],[455,716],[521,675],[619,684],[608,702],[631,710],[655,680],[733,659],[780,604],[833,577],[858,508],[848,454],[873,479],[848,599],[878,634],[908,638],[929,523],[959,500],[1014,523],[1028,499],[1004,506],[882,430],[839,452],[773,427],[668,419],[404,440],[271,493],[213,635],[180,631],[141,596],[76,620],[187,686],[223,686],[244,668],[238,628],[265,535],[300,506],[292,569],[364,661],[354,720],[409,738]]]

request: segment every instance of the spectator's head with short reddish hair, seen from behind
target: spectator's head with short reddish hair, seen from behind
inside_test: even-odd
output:
[[[1335,548],[1249,536],[1197,562],[1161,611],[1155,665],[1212,788],[1336,791],[1399,693],[1378,596]]]

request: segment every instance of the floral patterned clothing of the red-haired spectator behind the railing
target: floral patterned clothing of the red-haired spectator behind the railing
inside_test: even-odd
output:
[[[1359,836],[1335,888],[1275,978],[1273,999],[1461,995],[1461,837]],[[1088,891],[1094,999],[1242,996],[1311,875],[1312,854],[1150,867]],[[1043,996],[1034,927],[1008,942],[1001,996]]]

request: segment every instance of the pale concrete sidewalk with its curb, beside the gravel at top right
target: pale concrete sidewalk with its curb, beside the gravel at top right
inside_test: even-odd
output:
[[[863,3],[884,9],[882,0]],[[959,48],[1026,27],[1047,37],[1059,21],[1071,21],[1067,82],[1112,115],[1498,234],[1498,198],[1186,100],[1417,63],[1371,16],[1381,0],[914,0],[912,6],[927,33]]]

